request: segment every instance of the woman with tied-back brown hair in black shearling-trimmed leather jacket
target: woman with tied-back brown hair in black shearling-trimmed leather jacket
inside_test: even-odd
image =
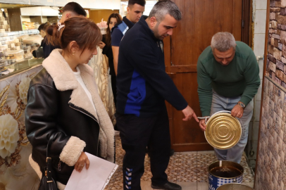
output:
[[[114,161],[114,130],[87,65],[97,54],[99,27],[87,18],[73,17],[51,25],[47,35],[61,49],[51,52],[30,82],[25,127],[32,144],[31,166],[44,175],[50,141],[53,178],[63,190],[74,169],[89,168],[85,152]]]

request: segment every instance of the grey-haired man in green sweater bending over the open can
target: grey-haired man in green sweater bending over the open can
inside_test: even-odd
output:
[[[218,160],[240,163],[247,144],[248,127],[253,113],[253,98],[259,89],[259,65],[252,49],[243,42],[235,42],[229,32],[218,32],[199,56],[197,63],[199,105],[202,116],[220,110],[230,110],[240,118],[242,137],[228,150],[215,148]],[[206,130],[205,120],[199,127]]]

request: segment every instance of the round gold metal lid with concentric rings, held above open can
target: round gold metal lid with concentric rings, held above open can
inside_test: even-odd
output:
[[[230,112],[217,112],[206,122],[206,141],[214,148],[225,150],[235,146],[242,136],[242,127]]]

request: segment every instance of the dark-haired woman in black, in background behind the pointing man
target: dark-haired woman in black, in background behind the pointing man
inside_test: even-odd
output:
[[[102,42],[99,44],[102,53],[108,57],[108,65],[110,68],[109,75],[111,75],[111,87],[113,92],[113,99],[116,105],[116,72],[113,65],[113,53],[111,48],[111,29],[117,24],[122,22],[122,18],[118,13],[112,13],[107,20],[106,34],[102,37]]]

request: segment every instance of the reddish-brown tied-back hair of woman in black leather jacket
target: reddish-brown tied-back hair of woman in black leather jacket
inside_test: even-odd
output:
[[[46,30],[48,44],[53,46],[61,46],[61,49],[66,49],[70,42],[75,41],[79,49],[94,49],[101,42],[101,32],[99,27],[83,17],[69,18],[65,22],[61,30],[58,31],[58,24],[54,23]]]

